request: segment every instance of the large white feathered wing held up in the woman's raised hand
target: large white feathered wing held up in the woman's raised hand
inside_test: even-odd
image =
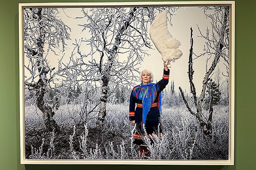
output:
[[[149,35],[155,47],[162,55],[164,62],[175,62],[175,60],[180,59],[182,52],[178,49],[181,45],[180,41],[173,38],[168,30],[167,17],[168,11],[163,11],[155,17],[152,22]],[[171,67],[168,65],[168,67]]]

